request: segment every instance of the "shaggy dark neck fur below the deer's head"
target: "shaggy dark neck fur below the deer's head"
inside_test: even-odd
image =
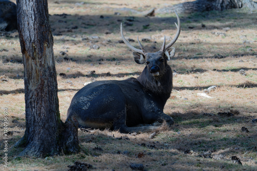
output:
[[[154,94],[168,96],[169,98],[172,90],[172,71],[168,64],[165,64],[165,66],[166,72],[160,73],[157,77],[152,76],[145,67],[137,80],[144,88],[151,90]]]

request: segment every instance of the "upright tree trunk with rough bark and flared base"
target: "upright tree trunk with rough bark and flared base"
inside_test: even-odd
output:
[[[20,155],[44,157],[74,153],[78,127],[60,119],[48,3],[17,0],[18,30],[24,65],[26,131],[16,143]]]

